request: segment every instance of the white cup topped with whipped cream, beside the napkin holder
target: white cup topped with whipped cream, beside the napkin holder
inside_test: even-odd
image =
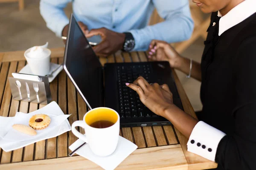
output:
[[[43,50],[43,52],[41,54],[40,52],[35,53],[35,56],[32,57],[32,55],[29,55],[29,53],[31,52],[32,49],[35,48],[37,47],[27,49],[24,53],[24,56],[33,74],[38,76],[45,76],[50,72],[51,51],[48,48],[38,46],[38,48]]]

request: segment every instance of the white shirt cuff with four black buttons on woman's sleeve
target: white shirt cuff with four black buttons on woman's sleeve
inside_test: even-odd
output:
[[[215,161],[217,147],[226,134],[202,121],[198,122],[189,137],[188,151]]]

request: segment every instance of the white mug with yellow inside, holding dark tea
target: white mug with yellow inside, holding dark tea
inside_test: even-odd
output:
[[[100,120],[107,120],[114,124],[106,128],[90,126],[93,122]],[[76,130],[75,127],[77,126],[84,128],[84,135]],[[116,150],[119,139],[120,117],[111,108],[94,108],[84,115],[83,120],[74,122],[71,130],[75,136],[89,144],[90,149],[95,155],[108,156]]]

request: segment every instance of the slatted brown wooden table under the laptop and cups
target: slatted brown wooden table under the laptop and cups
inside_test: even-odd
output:
[[[62,63],[64,48],[54,48],[51,51],[52,62]],[[11,77],[13,72],[19,72],[26,65],[23,53],[24,51],[0,53],[0,116],[15,116],[17,111],[29,113],[44,107],[12,99],[7,77]],[[106,62],[144,62],[147,57],[145,52],[119,52],[108,58],[101,58],[100,61],[102,65]],[[175,71],[173,74],[185,112],[195,117]],[[88,108],[64,71],[50,83],[50,88],[52,99],[62,111],[65,114],[72,113],[69,117],[70,124],[82,119]],[[120,135],[137,144],[138,149],[128,156],[117,170],[201,170],[217,167],[215,162],[188,152],[188,139],[173,126],[125,127],[121,128]],[[0,170],[101,169],[81,156],[67,156],[70,152],[68,146],[76,140],[73,133],[67,132],[7,153],[0,148]]]

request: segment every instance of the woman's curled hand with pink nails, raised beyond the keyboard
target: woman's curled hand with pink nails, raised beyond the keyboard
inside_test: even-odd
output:
[[[165,41],[152,40],[148,48],[148,58],[153,61],[168,61],[172,68],[180,65],[180,54]]]

